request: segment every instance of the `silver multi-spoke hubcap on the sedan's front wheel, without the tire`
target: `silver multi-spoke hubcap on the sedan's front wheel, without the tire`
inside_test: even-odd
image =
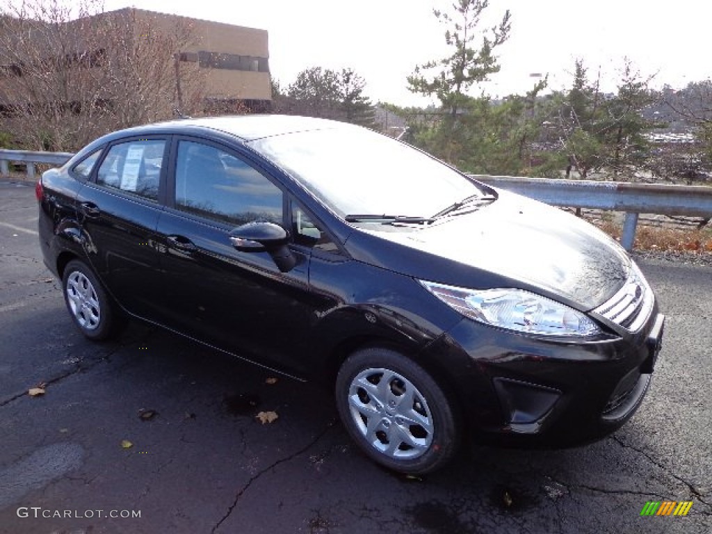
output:
[[[349,388],[349,406],[361,434],[389,458],[418,458],[433,440],[428,403],[417,387],[397,372],[360,372]]]

